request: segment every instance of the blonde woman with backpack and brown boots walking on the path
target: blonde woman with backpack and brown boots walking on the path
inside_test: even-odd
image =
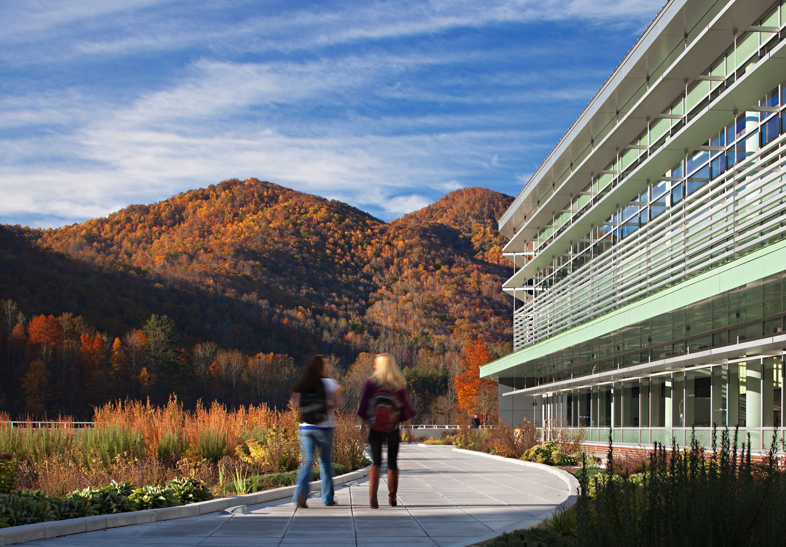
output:
[[[380,484],[382,445],[387,443],[387,503],[395,507],[399,490],[399,467],[396,463],[401,442],[399,426],[402,423],[406,425],[411,441],[412,409],[406,395],[406,380],[391,354],[378,354],[374,358],[374,373],[365,383],[358,416],[363,420],[362,435],[368,429],[371,445],[369,505],[373,508],[380,506],[376,500],[376,490]]]

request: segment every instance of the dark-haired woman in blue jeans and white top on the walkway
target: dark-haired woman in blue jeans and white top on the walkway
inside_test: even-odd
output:
[[[297,473],[295,494],[292,496],[300,507],[308,507],[308,483],[314,452],[319,447],[319,469],[322,483],[322,505],[336,505],[333,498],[333,429],[336,428],[334,409],[343,406],[343,398],[336,380],[328,378],[329,362],[324,355],[310,359],[306,372],[292,390],[292,408],[299,413],[301,464]]]

